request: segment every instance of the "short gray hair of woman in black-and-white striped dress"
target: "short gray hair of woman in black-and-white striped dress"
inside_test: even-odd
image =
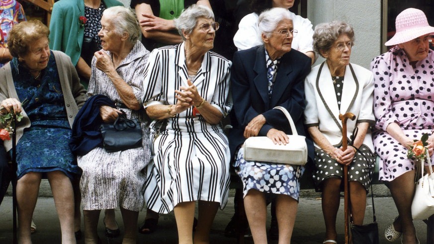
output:
[[[182,31],[190,34],[196,27],[197,18],[214,19],[214,13],[208,7],[193,4],[184,9],[179,17],[174,19],[175,27],[178,29],[179,35],[185,41]]]

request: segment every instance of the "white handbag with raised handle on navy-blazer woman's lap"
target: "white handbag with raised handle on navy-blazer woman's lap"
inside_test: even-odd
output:
[[[249,137],[244,142],[246,161],[304,165],[307,162],[307,145],[304,136],[299,136],[291,115],[284,107],[275,107],[282,111],[289,121],[293,135],[288,135],[289,143],[276,145],[266,136]]]

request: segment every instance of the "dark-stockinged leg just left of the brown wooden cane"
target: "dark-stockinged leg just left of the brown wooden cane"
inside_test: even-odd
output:
[[[340,196],[340,178],[327,178],[323,181],[323,193],[321,194],[321,205],[323,208],[324,222],[326,224],[325,240],[336,240],[336,215],[338,214]]]

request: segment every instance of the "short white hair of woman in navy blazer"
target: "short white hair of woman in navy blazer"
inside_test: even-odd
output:
[[[270,32],[274,31],[280,21],[289,19],[292,21],[291,13],[288,9],[281,7],[273,7],[263,11],[258,19],[258,34],[262,40],[262,34],[269,37]]]

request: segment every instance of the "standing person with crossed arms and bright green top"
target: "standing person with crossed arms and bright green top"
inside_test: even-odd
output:
[[[183,4],[181,4],[183,2]],[[177,32],[174,18],[191,4],[211,8],[209,0],[131,0],[131,8],[136,10],[142,28],[142,43],[149,51],[182,42]]]

